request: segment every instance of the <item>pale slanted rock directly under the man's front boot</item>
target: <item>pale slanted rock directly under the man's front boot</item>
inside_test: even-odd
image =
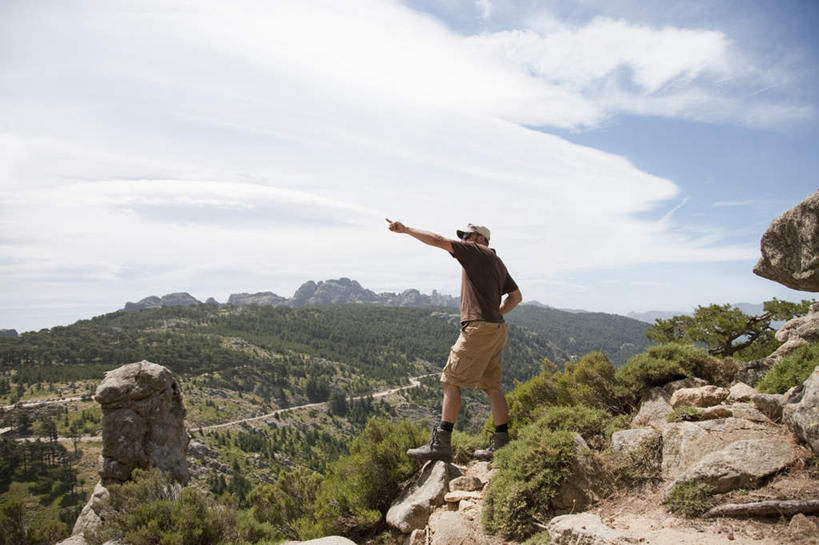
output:
[[[427,462],[390,506],[387,524],[404,534],[426,526],[433,508],[444,503],[450,477],[455,471],[460,472],[446,462]]]

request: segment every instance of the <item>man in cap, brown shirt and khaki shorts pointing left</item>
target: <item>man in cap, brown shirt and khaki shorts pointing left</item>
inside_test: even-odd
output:
[[[416,460],[452,461],[452,429],[461,410],[461,388],[481,388],[489,396],[495,433],[489,448],[475,452],[479,460],[491,460],[509,442],[506,398],[501,390],[501,353],[506,344],[503,315],[521,302],[522,296],[503,261],[489,247],[489,229],[468,224],[457,231],[460,240],[407,227],[387,220],[390,231],[406,233],[424,244],[449,252],[463,267],[461,274],[461,334],[449,352],[441,373],[444,400],[441,423],[432,430],[429,443],[407,451]],[[506,298],[501,301],[504,294]]]

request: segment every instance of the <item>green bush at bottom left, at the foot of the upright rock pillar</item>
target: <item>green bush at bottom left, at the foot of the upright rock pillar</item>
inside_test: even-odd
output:
[[[232,539],[235,505],[218,503],[198,488],[181,488],[158,469],[136,469],[131,478],[108,488],[103,523],[88,532],[89,543],[121,537],[131,545],[214,545]]]

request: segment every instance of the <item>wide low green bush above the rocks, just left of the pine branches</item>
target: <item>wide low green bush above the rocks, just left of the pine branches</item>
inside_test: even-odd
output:
[[[637,354],[617,370],[615,377],[636,401],[645,390],[677,379],[695,376],[724,385],[735,374],[733,360],[715,358],[690,344],[669,343]]]

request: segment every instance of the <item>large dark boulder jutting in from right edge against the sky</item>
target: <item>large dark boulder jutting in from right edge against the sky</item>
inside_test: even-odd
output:
[[[819,291],[819,191],[776,218],[760,250],[754,274],[791,289]]]

